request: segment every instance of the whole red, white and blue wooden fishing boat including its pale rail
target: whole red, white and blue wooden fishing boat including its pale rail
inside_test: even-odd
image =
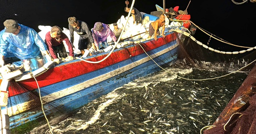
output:
[[[1,77],[1,129],[9,134],[40,118],[71,113],[125,83],[175,63],[180,40],[186,37],[183,34],[189,35],[181,27],[166,26],[165,38],[123,40],[110,50],[60,64],[46,61],[31,71],[20,69],[20,61],[12,62],[8,66],[15,69]]]

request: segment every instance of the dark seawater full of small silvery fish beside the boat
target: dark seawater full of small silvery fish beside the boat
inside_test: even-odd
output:
[[[166,71],[134,80],[84,105],[71,117],[53,125],[51,131],[53,134],[200,134],[201,128],[215,122],[248,74],[236,72],[214,80],[199,80],[220,77],[239,68],[202,64],[204,68],[195,69],[176,62]],[[48,128],[42,134],[51,132]]]

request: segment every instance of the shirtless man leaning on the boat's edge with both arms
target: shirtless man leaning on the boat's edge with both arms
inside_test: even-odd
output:
[[[159,19],[150,23],[148,27],[149,38],[154,34],[154,40],[157,40],[157,35],[160,35],[159,28],[162,27],[162,35],[165,38],[164,30],[165,30],[165,16],[164,14],[160,14]]]

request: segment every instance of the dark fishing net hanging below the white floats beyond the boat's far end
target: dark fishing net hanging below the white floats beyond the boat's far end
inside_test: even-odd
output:
[[[185,29],[182,29],[183,31],[186,31]],[[194,36],[196,31],[196,27],[194,25],[191,25],[189,32],[190,35]],[[186,31],[188,32],[188,31]],[[256,51],[247,51],[246,53],[242,54],[221,54],[217,53],[215,51],[211,51],[207,48],[204,48],[203,46],[199,45],[197,42],[191,40],[190,37],[187,37],[183,34],[179,34],[178,36],[181,36],[180,40],[178,38],[179,43],[179,51],[178,51],[178,59],[185,61],[186,65],[196,67],[196,68],[202,68],[201,64],[202,62],[210,62],[211,64],[214,63],[223,63],[224,64],[230,64],[230,63],[236,63],[239,64],[242,62],[251,62],[252,57],[256,57]],[[205,43],[203,43],[205,44]],[[209,46],[211,48],[214,48],[214,46],[218,46],[219,44],[214,44],[212,46]],[[225,47],[228,49],[229,47]],[[216,47],[214,48],[216,50],[220,50],[220,48]],[[242,50],[247,48],[241,48]],[[231,49],[228,49],[231,50]],[[220,50],[223,51],[223,50]],[[247,68],[253,68],[253,65],[248,66]]]

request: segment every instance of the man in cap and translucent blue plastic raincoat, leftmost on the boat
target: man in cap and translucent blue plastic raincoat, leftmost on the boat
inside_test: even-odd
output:
[[[43,66],[44,57],[51,60],[47,46],[38,33],[27,26],[17,23],[16,20],[6,20],[5,29],[0,31],[0,66],[4,66],[4,56],[12,52],[24,65],[25,71],[29,71],[32,58],[38,61],[38,68]],[[41,51],[40,51],[41,49]]]

